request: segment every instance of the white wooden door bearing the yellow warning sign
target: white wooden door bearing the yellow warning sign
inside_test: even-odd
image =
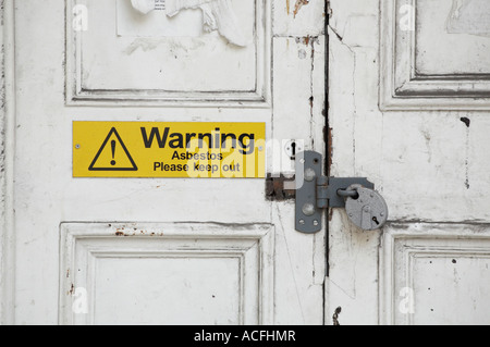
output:
[[[291,171],[324,151],[323,1],[148,2],[2,2],[2,322],[321,324],[326,234],[266,179],[74,178],[72,127],[262,122]]]

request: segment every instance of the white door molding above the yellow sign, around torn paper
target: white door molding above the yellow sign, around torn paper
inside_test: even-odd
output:
[[[242,108],[270,108],[271,104],[271,23],[272,7],[270,1],[254,0],[255,22],[254,38],[249,46],[255,49],[254,88],[252,90],[235,90],[234,86],[221,87],[220,90],[184,90],[180,87],[155,88],[151,86],[109,88],[86,86],[86,76],[89,72],[84,70],[84,47],[89,41],[84,30],[74,30],[72,27],[74,9],[79,5],[78,0],[66,1],[66,104],[68,106],[110,106],[110,107],[230,107]],[[115,17],[115,15],[114,15]],[[112,24],[112,23],[111,23]],[[90,24],[89,24],[90,25]],[[114,28],[115,29],[115,28]],[[100,36],[97,36],[100,38]],[[119,40],[127,39],[118,37]],[[132,39],[138,45],[138,39]],[[149,38],[148,38],[149,40]],[[168,51],[175,47],[171,37],[155,39],[145,44],[142,39],[139,45],[150,45],[166,48]],[[206,39],[197,44],[205,46]],[[192,44],[194,46],[196,42]],[[123,44],[121,44],[123,45]],[[121,46],[120,45],[120,46]],[[119,47],[119,46],[118,46]],[[124,47],[121,46],[121,47]],[[137,46],[136,46],[137,47]],[[240,50],[241,48],[238,48]],[[87,50],[87,49],[85,49]],[[146,49],[145,49],[146,50]],[[113,64],[107,61],[106,64]],[[160,71],[161,73],[161,71]],[[231,80],[237,80],[234,76]],[[105,84],[101,83],[103,86]]]

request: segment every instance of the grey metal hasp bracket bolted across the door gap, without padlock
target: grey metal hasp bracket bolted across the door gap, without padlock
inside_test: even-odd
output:
[[[317,233],[322,228],[322,210],[345,208],[342,193],[353,184],[373,189],[365,177],[326,177],[322,175],[322,156],[315,151],[296,154],[295,228],[301,233]]]

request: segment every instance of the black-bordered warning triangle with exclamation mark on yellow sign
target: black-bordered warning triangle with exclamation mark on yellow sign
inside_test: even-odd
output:
[[[114,139],[111,140],[110,146],[108,146],[111,137]],[[113,160],[114,154],[115,154],[115,149],[118,148],[118,142],[119,142],[119,148],[123,149],[123,153],[125,156],[124,157],[125,162],[123,162],[123,164],[120,164],[120,163],[118,163],[118,161]],[[106,149],[106,147],[108,147],[108,148],[110,147],[110,149]],[[110,150],[112,152],[112,160],[100,160],[100,162],[98,162],[100,154],[107,150]],[[119,156],[121,156],[121,154],[119,154]],[[119,162],[121,162],[121,161],[119,160]],[[103,140],[102,146],[100,146],[100,149],[97,152],[97,154],[95,156],[90,166],[88,166],[88,171],[138,171],[138,168],[136,166],[136,163],[134,162],[133,157],[131,157],[130,151],[127,150],[126,146],[124,145],[123,140],[121,139],[121,136],[119,136],[119,133],[115,129],[115,127],[111,128],[111,131],[109,132],[109,135],[107,135],[106,139]]]

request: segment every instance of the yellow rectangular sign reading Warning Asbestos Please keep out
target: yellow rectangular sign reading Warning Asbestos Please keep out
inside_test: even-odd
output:
[[[73,122],[74,177],[264,178],[265,123]]]

